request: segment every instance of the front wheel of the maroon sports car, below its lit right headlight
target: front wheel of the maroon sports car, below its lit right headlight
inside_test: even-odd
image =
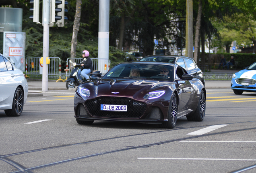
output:
[[[169,106],[168,115],[167,115],[167,122],[163,122],[160,127],[173,129],[177,123],[177,115],[178,115],[178,99],[177,95],[174,94],[171,97],[171,106]]]

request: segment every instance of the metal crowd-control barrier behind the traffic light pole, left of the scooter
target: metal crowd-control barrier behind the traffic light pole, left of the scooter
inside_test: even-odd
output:
[[[58,80],[61,79],[61,71],[60,71],[60,62],[61,59],[59,57],[49,57],[50,58],[50,64],[48,64],[48,77],[56,78],[56,76],[59,76]],[[28,56],[25,58],[26,60],[26,77],[41,77],[43,74],[43,64],[40,63],[41,57],[33,57]],[[29,75],[29,76],[28,76]],[[56,82],[58,82],[58,80]]]

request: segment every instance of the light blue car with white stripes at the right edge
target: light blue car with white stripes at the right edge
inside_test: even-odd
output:
[[[231,89],[236,95],[242,95],[244,91],[256,92],[256,62],[233,74]]]

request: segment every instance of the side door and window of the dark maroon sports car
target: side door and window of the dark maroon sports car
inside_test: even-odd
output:
[[[177,76],[176,79],[182,78],[182,75],[186,72],[181,68],[177,67],[176,70]],[[178,80],[178,94],[179,94],[179,107],[178,107],[178,116],[183,115],[186,113],[189,102],[190,102],[190,96],[192,91],[192,85],[189,80]]]

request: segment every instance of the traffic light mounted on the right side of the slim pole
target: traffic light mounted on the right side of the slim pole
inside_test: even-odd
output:
[[[50,14],[50,22],[51,24],[57,23],[58,26],[64,26],[64,20],[68,19],[64,16],[64,13],[68,10],[65,9],[65,4],[68,4],[65,0],[52,0],[51,5],[51,14]]]

